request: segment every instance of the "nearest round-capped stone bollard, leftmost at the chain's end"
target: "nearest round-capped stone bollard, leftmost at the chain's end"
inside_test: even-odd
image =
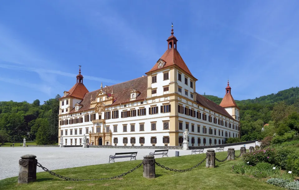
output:
[[[26,154],[19,160],[19,177],[18,183],[29,183],[36,181],[36,156]]]

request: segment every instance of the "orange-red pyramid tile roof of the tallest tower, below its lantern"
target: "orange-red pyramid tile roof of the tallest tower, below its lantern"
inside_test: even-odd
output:
[[[186,63],[183,60],[183,58],[178,53],[178,50],[176,50],[175,48],[167,49],[160,59],[162,59],[166,62],[164,67],[158,68],[158,63],[156,63],[154,65],[154,67],[149,72],[156,71],[156,70],[159,70],[159,69],[164,69],[165,67],[168,67],[168,66],[171,66],[171,65],[177,65],[178,67],[183,69],[183,71],[185,71],[189,75],[193,76],[191,74],[191,72],[189,71]]]

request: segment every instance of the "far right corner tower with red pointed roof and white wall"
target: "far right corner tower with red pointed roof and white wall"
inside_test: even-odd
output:
[[[223,107],[235,120],[240,121],[240,108],[236,104],[233,96],[231,95],[231,88],[229,80],[225,88],[225,95],[222,99],[220,106]]]

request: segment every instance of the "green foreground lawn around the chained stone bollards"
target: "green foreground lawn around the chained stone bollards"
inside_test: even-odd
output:
[[[239,155],[240,151],[236,151]],[[218,159],[224,159],[227,152],[216,153]],[[160,157],[160,156],[159,156]],[[187,155],[171,158],[157,158],[162,165],[175,169],[187,169],[199,163],[205,154]],[[96,158],[92,158],[96,159]],[[67,160],[66,160],[67,161]],[[240,162],[216,162],[216,168],[206,168],[205,162],[199,167],[183,173],[172,172],[156,165],[156,178],[143,178],[142,166],[131,174],[120,179],[102,181],[65,181],[47,172],[37,173],[37,182],[17,184],[17,177],[0,180],[1,189],[282,189],[267,184],[264,180],[246,175],[235,174],[231,171],[232,165]],[[54,170],[56,173],[70,178],[108,178],[127,172],[140,164],[141,160],[116,162],[111,164],[91,165],[69,169]],[[43,163],[41,163],[43,164]],[[47,167],[45,165],[45,167]],[[50,168],[49,168],[50,169]]]

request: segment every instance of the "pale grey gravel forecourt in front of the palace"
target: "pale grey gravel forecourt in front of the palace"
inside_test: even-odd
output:
[[[242,145],[228,146],[224,148],[227,151],[229,147],[240,150]],[[249,151],[249,146],[255,146],[255,143],[246,145]],[[216,148],[212,148],[216,150]],[[204,153],[206,153],[204,150]],[[50,170],[73,168],[87,165],[105,164],[109,162],[109,155],[114,155],[116,152],[133,152],[137,151],[137,160],[142,160],[143,156],[148,155],[153,149],[116,149],[116,148],[58,148],[58,147],[0,147],[0,179],[14,177],[18,175],[18,161],[21,155],[33,154],[36,155],[38,162]],[[191,155],[191,150],[169,150],[168,156],[175,156],[175,151],[179,151],[180,156]],[[162,155],[156,156],[157,158]],[[129,158],[115,159],[116,162],[128,161]],[[37,172],[43,171],[37,168]]]

